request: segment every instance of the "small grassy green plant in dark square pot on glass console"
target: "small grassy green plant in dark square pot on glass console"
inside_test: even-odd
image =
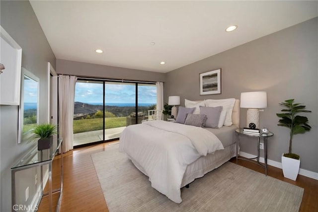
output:
[[[32,130],[32,137],[29,142],[32,140],[38,139],[38,150],[49,149],[53,144],[53,135],[56,134],[56,125],[50,123],[43,123],[36,125]]]

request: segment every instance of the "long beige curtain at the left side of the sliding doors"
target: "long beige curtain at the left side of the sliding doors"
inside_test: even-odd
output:
[[[73,116],[76,76],[59,75],[59,137],[63,153],[73,149]]]

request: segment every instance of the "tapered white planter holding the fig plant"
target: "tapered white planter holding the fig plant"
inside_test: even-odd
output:
[[[300,159],[296,160],[293,158],[284,157],[284,153],[283,153],[282,167],[283,167],[284,177],[295,181],[299,172]]]

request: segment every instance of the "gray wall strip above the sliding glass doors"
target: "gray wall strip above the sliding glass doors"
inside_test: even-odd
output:
[[[148,82],[164,82],[164,73],[103,66],[69,60],[56,60],[57,73],[103,79],[136,80]]]

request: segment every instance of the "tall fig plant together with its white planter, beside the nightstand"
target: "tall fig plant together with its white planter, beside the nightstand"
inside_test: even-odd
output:
[[[289,150],[288,153],[282,154],[282,167],[283,174],[285,178],[296,180],[300,167],[300,156],[292,152],[292,141],[293,135],[299,133],[305,133],[311,130],[311,126],[307,123],[308,118],[306,116],[296,115],[300,112],[311,112],[310,110],[305,110],[304,105],[299,103],[294,103],[294,100],[285,100],[285,102],[280,103],[280,106],[287,107],[287,109],[282,109],[284,113],[276,113],[279,119],[278,126],[285,126],[290,129],[289,138]]]

